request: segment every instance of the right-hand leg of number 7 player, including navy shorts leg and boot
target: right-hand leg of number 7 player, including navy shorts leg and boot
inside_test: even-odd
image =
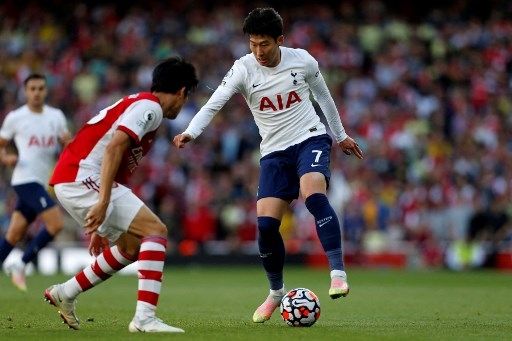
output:
[[[306,140],[299,156],[299,174],[301,195],[315,218],[318,238],[331,269],[329,296],[336,299],[346,296],[349,286],[343,264],[341,226],[326,195],[331,143],[327,136]]]

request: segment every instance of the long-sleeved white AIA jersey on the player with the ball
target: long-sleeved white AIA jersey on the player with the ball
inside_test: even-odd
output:
[[[326,133],[311,103],[311,90],[336,141],[343,141],[347,134],[317,61],[302,49],[280,49],[281,60],[275,67],[261,66],[252,53],[235,61],[184,133],[199,136],[224,104],[240,93],[258,126],[262,156],[286,149]]]

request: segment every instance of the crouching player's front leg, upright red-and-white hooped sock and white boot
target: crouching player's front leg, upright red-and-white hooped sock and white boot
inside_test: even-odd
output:
[[[183,333],[183,329],[169,326],[156,317],[166,257],[167,227],[143,206],[130,224],[128,234],[140,238],[137,305],[129,331]]]

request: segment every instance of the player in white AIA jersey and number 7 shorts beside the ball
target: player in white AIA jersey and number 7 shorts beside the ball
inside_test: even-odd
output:
[[[298,198],[299,192],[315,217],[318,237],[329,260],[329,296],[335,299],[349,292],[340,224],[326,197],[332,139],[315,113],[310,91],[327,118],[336,144],[345,154],[360,159],[363,154],[345,133],[317,61],[305,50],[281,46],[281,16],[272,8],[257,8],[245,19],[243,31],[249,36],[252,53],[235,61],[221,85],[173,143],[183,148],[202,133],[235,93],[244,96],[262,137],[258,246],[270,294],[253,315],[253,321],[261,323],[270,319],[286,293],[285,249],[279,226],[287,206]]]

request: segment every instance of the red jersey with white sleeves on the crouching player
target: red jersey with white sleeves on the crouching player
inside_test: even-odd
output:
[[[97,177],[101,172],[105,148],[116,130],[124,131],[132,140],[115,177],[116,182],[126,184],[128,177],[151,148],[162,119],[158,98],[148,92],[124,97],[101,110],[80,129],[64,149],[50,179],[50,185]]]

